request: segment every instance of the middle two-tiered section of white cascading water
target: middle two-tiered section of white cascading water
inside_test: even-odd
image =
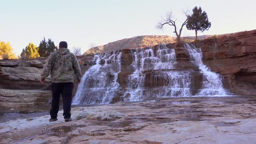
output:
[[[136,49],[133,58],[135,72],[129,76],[125,101],[191,95],[190,71],[174,70],[174,49],[166,45]]]

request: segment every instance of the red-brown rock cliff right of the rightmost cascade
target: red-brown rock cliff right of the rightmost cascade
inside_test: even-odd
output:
[[[204,63],[226,77],[230,91],[256,93],[256,30],[205,39],[200,43]]]

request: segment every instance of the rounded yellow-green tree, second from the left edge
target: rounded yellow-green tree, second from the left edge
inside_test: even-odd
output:
[[[36,47],[36,45],[33,43],[29,43],[29,45],[27,45],[26,48],[22,50],[20,56],[22,58],[27,57],[28,59],[39,57],[40,55],[38,53],[38,47]]]

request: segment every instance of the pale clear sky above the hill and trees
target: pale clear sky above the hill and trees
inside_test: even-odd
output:
[[[200,6],[211,28],[199,35],[234,33],[256,29],[256,0],[0,0],[0,40],[10,42],[20,54],[30,42],[43,36],[69,48],[91,43],[104,45],[141,35],[174,36],[173,27],[155,29],[161,16],[172,11],[183,23],[184,10]],[[178,27],[180,26],[178,25]],[[184,27],[183,36],[194,36]]]

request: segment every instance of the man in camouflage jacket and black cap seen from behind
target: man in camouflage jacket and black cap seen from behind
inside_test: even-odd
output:
[[[69,52],[68,44],[64,41],[59,43],[59,49],[54,51],[46,60],[43,67],[40,82],[45,83],[45,78],[51,73],[52,108],[50,110],[50,122],[57,121],[59,111],[59,98],[62,95],[63,116],[65,121],[72,121],[71,103],[74,76],[77,82],[81,80],[81,70],[75,55]]]

